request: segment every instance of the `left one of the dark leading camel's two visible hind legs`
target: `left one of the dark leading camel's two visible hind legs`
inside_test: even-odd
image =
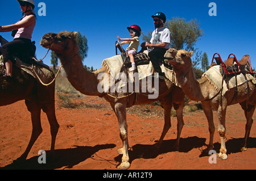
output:
[[[34,145],[35,141],[38,139],[39,135],[43,132],[41,126],[41,108],[35,102],[31,102],[25,100],[26,106],[28,111],[31,113],[31,121],[32,121],[32,134],[30,138],[30,142],[28,143],[27,149],[18,159],[26,159],[28,153],[30,152],[32,146]]]

